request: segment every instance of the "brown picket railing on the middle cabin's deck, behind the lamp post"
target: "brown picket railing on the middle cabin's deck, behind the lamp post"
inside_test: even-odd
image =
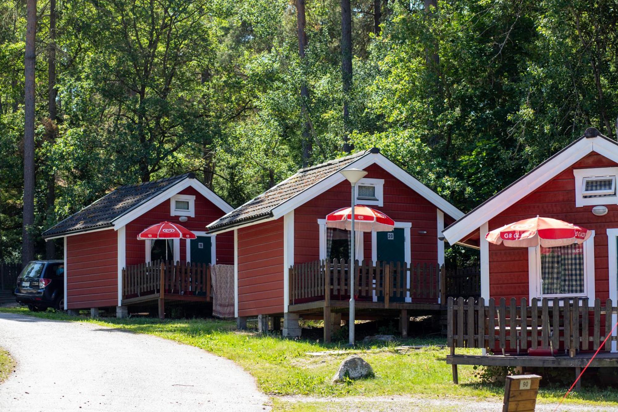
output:
[[[444,296],[444,266],[400,262],[355,263],[354,296],[358,300],[438,302]],[[350,298],[349,265],[342,260],[315,260],[289,268],[290,304]]]

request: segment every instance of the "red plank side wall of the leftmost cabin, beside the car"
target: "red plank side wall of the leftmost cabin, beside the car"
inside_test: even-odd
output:
[[[67,307],[117,306],[118,236],[113,229],[67,236]]]

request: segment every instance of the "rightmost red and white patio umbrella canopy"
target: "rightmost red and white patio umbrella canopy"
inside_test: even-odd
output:
[[[591,236],[591,231],[582,226],[562,220],[535,217],[509,223],[492,230],[485,239],[493,244],[519,247],[556,247],[567,244],[582,244]]]

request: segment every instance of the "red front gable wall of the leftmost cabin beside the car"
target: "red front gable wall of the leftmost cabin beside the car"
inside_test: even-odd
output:
[[[180,223],[177,216],[170,215],[169,198],[163,200],[160,204],[143,213],[135,220],[132,220],[126,226],[126,256],[127,265],[141,264],[146,259],[145,241],[138,240],[137,235],[150,225],[155,225],[165,220],[180,223],[188,230],[206,231],[206,225],[217,220],[225,215],[219,207],[213,202],[206,199],[193,187],[187,187],[179,192],[179,194],[195,196],[195,217],[189,217],[184,223]],[[187,259],[187,243],[184,239],[180,239],[180,260],[184,262]],[[234,233],[226,232],[216,236],[216,257],[218,264],[233,265],[234,264]]]

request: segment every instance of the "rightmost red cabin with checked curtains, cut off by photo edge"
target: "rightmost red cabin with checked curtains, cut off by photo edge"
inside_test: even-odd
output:
[[[543,320],[547,322],[547,325],[544,325],[547,327],[547,333],[550,332],[549,322],[551,328],[554,328],[553,338],[556,339],[554,349],[570,349],[572,354],[575,351],[586,351],[593,347],[593,340],[596,340],[595,345],[598,347],[599,334],[603,341],[604,333],[611,330],[611,325],[616,322],[616,312],[612,309],[611,303],[609,309],[606,310],[605,306],[606,299],[610,298],[614,305],[617,299],[617,179],[618,143],[590,128],[586,130],[585,135],[444,230],[444,236],[451,244],[480,249],[481,297],[485,304],[488,304],[490,298],[494,298],[495,304],[498,305],[500,299],[505,298],[507,306],[517,306],[517,313],[509,312],[506,319],[509,327],[519,329],[517,332],[515,329],[510,332],[509,336],[512,336],[513,340],[510,344],[508,341],[506,344],[502,343],[501,350],[514,351],[515,343],[518,349],[530,347],[531,344],[536,348],[537,332],[539,337],[541,332],[536,329],[530,330],[530,322],[532,319],[537,321],[536,314],[540,316],[538,308],[541,304],[546,304],[543,303],[544,300],[547,300],[550,308],[556,306],[556,302],[560,307],[559,316]],[[485,240],[488,231],[536,215],[583,226],[592,230],[593,236],[581,245],[548,249],[497,246]],[[603,312],[595,312],[593,333],[592,308],[595,307],[596,299],[601,300],[604,309]],[[472,303],[471,305],[474,306]],[[567,309],[562,309],[563,307]],[[472,311],[470,316],[477,316],[473,311],[480,309],[481,304],[475,309],[470,309]],[[487,307],[483,310],[488,311]],[[493,322],[492,311],[489,315],[485,314],[485,317],[492,319]],[[571,312],[564,313],[564,311]],[[613,320],[606,318],[606,314],[611,313]],[[523,314],[527,314],[528,319],[525,319],[526,316]],[[478,316],[478,319],[481,319],[483,314]],[[504,317],[504,313],[502,316]],[[528,324],[524,326],[526,322]],[[476,327],[473,322],[468,322],[468,325],[471,331]],[[587,325],[590,326],[590,330]],[[522,332],[526,328],[527,333]],[[509,333],[508,330],[506,333]],[[534,338],[531,337],[531,333],[534,333]],[[462,333],[459,335],[462,339]],[[470,332],[468,335],[473,333]],[[498,345],[491,338],[485,341],[486,346],[482,344],[485,340],[483,337],[474,339],[479,340],[478,347],[481,348],[495,348]],[[547,337],[544,343],[547,343]],[[606,348],[611,345],[611,351],[616,351],[615,333],[607,345]],[[527,364],[516,358],[504,360],[499,364],[505,366]],[[486,359],[482,357],[465,361],[459,358],[452,359],[454,364],[457,362],[485,364],[483,363],[485,361]],[[500,359],[498,361],[502,362]],[[496,359],[493,362],[496,362]],[[534,365],[541,365],[538,362]],[[530,365],[534,366],[532,363]],[[575,363],[570,363],[570,366],[573,365]],[[599,366],[613,366],[613,364],[599,364]]]

